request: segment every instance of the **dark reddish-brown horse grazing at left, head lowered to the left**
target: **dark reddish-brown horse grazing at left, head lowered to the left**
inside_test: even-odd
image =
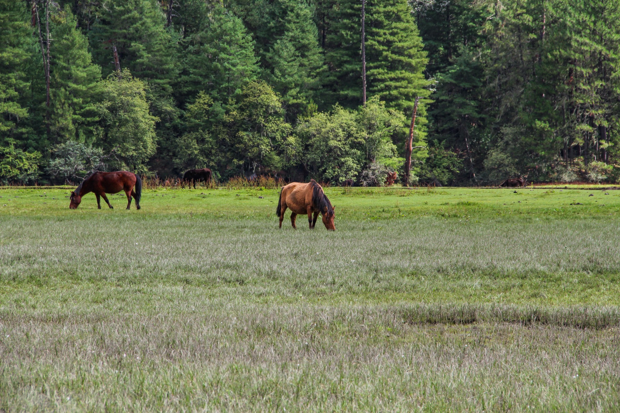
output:
[[[115,194],[120,191],[125,191],[127,196],[127,209],[131,205],[132,196],[136,200],[136,209],[140,209],[142,180],[135,173],[127,171],[93,173],[83,180],[75,191],[71,192],[69,208],[76,209],[80,202],[82,202],[82,196],[89,192],[94,192],[97,197],[97,208],[101,209],[100,197],[102,197],[105,203],[108,204],[108,207],[113,209],[105,194]]]

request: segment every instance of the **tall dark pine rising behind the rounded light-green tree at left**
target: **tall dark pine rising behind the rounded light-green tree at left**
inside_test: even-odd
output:
[[[116,70],[117,50],[121,69],[148,84],[147,100],[159,119],[159,152],[153,166],[162,172],[172,168],[170,157],[180,129],[180,110],[174,100],[179,78],[179,35],[167,25],[157,0],[104,0],[92,25],[89,40],[95,62],[104,76]]]

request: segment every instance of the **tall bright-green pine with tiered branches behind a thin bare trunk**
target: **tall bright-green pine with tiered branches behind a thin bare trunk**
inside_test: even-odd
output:
[[[327,86],[332,100],[346,107],[361,103],[361,2],[342,0],[327,35]],[[366,3],[368,95],[409,112],[416,96],[427,97],[423,71],[427,57],[406,0]]]

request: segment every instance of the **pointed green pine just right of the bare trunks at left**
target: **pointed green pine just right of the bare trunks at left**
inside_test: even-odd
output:
[[[92,95],[101,77],[91,63],[88,40],[76,28],[69,6],[53,17],[51,45],[51,142],[73,140],[92,144],[96,121]]]

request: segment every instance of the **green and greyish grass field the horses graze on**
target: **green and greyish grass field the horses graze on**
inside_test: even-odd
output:
[[[275,189],[69,191],[0,189],[0,411],[620,404],[620,191],[327,188],[335,232]]]

